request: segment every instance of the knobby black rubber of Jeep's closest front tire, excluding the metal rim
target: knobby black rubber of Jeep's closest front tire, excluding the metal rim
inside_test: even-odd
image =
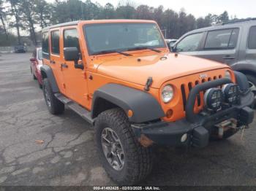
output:
[[[125,161],[128,163],[127,174],[125,179],[118,179],[119,177],[113,176],[107,171],[107,174],[113,179],[114,182],[117,182],[119,185],[134,185],[140,182],[143,179],[146,179],[146,176],[150,174],[153,164],[152,159],[152,149],[151,147],[145,148],[140,145],[138,140],[135,138],[135,134],[132,131],[127,115],[124,113],[122,109],[110,109],[105,112],[102,112],[97,117],[95,126],[99,127],[101,122],[110,122],[116,130],[116,128],[121,129],[121,133],[123,133],[123,137],[125,137],[127,142],[127,156],[129,156],[129,160]],[[95,133],[97,136],[97,133]],[[119,137],[119,139],[122,139]],[[98,145],[99,147],[99,145]],[[100,147],[102,147],[100,145]],[[123,147],[125,147],[123,145]],[[104,155],[104,154],[103,154]],[[106,160],[101,157],[101,160]],[[108,162],[107,162],[108,163]]]

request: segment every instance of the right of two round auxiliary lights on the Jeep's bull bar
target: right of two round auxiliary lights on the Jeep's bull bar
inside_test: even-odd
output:
[[[222,87],[222,93],[225,95],[225,101],[229,104],[238,104],[240,100],[239,87],[235,84],[227,84]]]

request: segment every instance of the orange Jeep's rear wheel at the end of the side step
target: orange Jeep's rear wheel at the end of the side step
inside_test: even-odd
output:
[[[49,112],[51,114],[61,114],[64,112],[64,104],[54,96],[53,90],[50,87],[50,82],[47,78],[43,79],[42,90]]]

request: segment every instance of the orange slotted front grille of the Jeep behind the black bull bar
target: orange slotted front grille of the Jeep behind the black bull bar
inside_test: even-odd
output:
[[[192,90],[192,88],[195,87],[195,85],[198,85],[198,84],[203,83],[203,82],[209,82],[209,81],[215,80],[215,79],[220,79],[220,78],[222,78],[222,75],[214,76],[214,77],[208,77],[208,79],[202,79],[201,81],[196,80],[195,82],[188,82],[186,84],[182,84],[181,85],[181,95],[182,95],[184,111],[186,110],[187,98],[189,96],[189,93]],[[203,94],[204,93],[205,93],[205,91],[200,92],[200,93],[197,94],[197,99],[195,101],[195,107],[197,107],[197,109],[200,109],[200,108],[203,107]]]

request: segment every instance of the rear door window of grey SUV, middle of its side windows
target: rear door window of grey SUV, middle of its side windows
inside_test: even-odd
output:
[[[236,47],[238,28],[209,31],[206,37],[205,49],[230,49]]]

